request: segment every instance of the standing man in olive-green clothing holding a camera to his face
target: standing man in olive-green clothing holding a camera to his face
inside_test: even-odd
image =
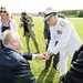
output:
[[[21,13],[20,21],[21,21],[20,28],[23,27],[23,35],[25,35],[25,40],[27,40],[28,53],[30,53],[30,45],[29,45],[30,37],[33,40],[33,43],[37,49],[37,53],[40,53],[39,44],[35,38],[35,31],[33,28],[34,24],[33,24],[32,18],[29,14],[27,14],[25,11],[23,11]]]

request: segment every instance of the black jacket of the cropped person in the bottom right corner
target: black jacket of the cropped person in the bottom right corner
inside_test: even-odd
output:
[[[83,83],[83,45],[64,77],[64,83]]]

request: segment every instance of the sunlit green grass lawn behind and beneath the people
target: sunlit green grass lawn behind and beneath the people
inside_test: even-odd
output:
[[[19,18],[20,17],[14,17],[14,20],[17,21],[18,25],[20,22]],[[83,18],[68,18],[68,19],[73,22],[75,30],[83,42]],[[34,21],[34,29],[35,29],[37,39],[40,45],[40,50],[43,53],[45,52],[45,44],[44,44],[44,38],[43,38],[43,18],[33,17],[33,21]],[[18,27],[18,30],[20,35],[22,37],[22,42],[23,42],[23,49],[21,50],[21,52],[27,52],[25,38],[22,35],[23,30],[22,28],[19,28],[19,27]],[[31,44],[31,52],[32,53],[37,52],[32,40],[30,41],[30,44]],[[29,62],[31,65],[32,73],[39,80],[40,83],[58,83],[59,82],[60,72],[55,71],[52,68],[52,64],[50,66],[50,71],[45,73],[43,72],[44,64],[45,64],[44,60],[33,60]],[[69,61],[68,61],[68,69],[70,68],[70,62],[71,62],[71,58],[69,58]]]

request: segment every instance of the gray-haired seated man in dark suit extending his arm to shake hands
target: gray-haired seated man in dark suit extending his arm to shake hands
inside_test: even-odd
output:
[[[44,59],[44,55],[21,54],[21,38],[12,30],[3,32],[2,43],[4,48],[0,51],[0,83],[39,83],[27,60]]]

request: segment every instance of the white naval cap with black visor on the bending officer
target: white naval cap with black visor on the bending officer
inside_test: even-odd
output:
[[[58,12],[51,8],[48,8],[44,12],[44,20],[50,19],[52,15],[56,15]]]

